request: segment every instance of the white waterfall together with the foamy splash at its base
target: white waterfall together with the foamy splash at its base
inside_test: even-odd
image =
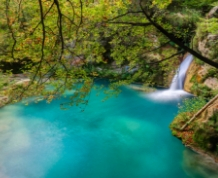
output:
[[[179,68],[173,80],[171,82],[170,88],[168,90],[157,91],[154,93],[146,94],[147,98],[158,101],[169,101],[169,100],[179,100],[183,96],[190,95],[183,90],[184,81],[186,77],[186,72],[193,60],[192,55],[188,55],[183,62],[180,64]]]

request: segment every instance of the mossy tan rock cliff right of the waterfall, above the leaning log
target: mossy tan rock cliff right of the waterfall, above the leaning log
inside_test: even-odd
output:
[[[203,56],[218,62],[218,6],[197,23],[196,34],[193,39],[193,48]],[[205,90],[212,92],[218,90],[218,70],[200,64],[195,60],[187,72],[185,90],[195,95],[205,94]],[[200,91],[202,90],[202,91]],[[211,96],[215,94],[209,94]],[[208,97],[208,96],[207,96]]]

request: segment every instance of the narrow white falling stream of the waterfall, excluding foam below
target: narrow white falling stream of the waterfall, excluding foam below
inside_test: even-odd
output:
[[[192,59],[193,59],[193,56],[189,54],[182,61],[179,68],[177,69],[176,75],[173,77],[173,80],[170,85],[170,90],[182,90],[183,89],[186,72],[192,62]]]

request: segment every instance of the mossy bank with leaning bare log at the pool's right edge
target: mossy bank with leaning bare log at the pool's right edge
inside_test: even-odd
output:
[[[193,151],[218,163],[218,95],[197,112],[178,114],[170,124],[172,134]]]

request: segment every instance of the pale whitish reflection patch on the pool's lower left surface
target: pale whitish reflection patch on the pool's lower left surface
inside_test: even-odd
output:
[[[45,120],[17,117],[20,109],[8,106],[0,114],[0,177],[45,177],[59,159],[63,132]]]

